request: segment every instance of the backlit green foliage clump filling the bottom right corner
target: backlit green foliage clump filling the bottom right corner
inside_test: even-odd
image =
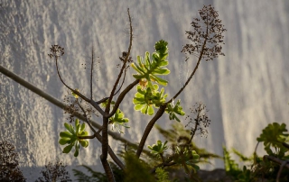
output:
[[[243,168],[238,168],[235,160],[230,158],[229,152],[226,148],[224,150],[224,161],[227,174],[234,177],[238,182],[256,181],[258,178],[266,178],[269,181],[288,181],[289,168],[281,168],[282,161],[289,159],[289,148],[286,148],[284,141],[288,140],[288,133],[286,124],[284,123],[269,123],[262,131],[259,137],[256,138],[258,142],[264,142],[264,150],[267,155],[260,158],[256,152],[252,157],[245,157],[238,150],[232,151],[242,161],[248,163]],[[275,149],[275,150],[272,150]],[[247,168],[250,166],[250,168]]]

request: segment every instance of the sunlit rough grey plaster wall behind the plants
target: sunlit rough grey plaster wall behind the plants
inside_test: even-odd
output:
[[[187,63],[181,54],[187,43],[184,32],[191,29],[193,17],[205,3],[219,11],[228,32],[225,33],[226,57],[201,62],[200,68],[183,95],[182,105],[203,102],[210,110],[211,125],[207,139],[196,137],[200,147],[222,154],[222,145],[251,154],[256,137],[267,123],[289,123],[289,2],[288,1],[0,1],[0,64],[63,99],[67,89],[56,75],[54,62],[48,58],[52,44],[65,48],[61,74],[72,87],[89,94],[89,63],[93,46],[99,63],[95,66],[94,97],[108,95],[119,70],[117,59],[128,45],[126,9],[133,17],[135,39],[132,57],[154,50],[154,42],[169,42],[171,74],[169,96],[184,83],[195,59]],[[133,69],[128,72],[134,73]],[[126,85],[133,81],[126,79]],[[126,96],[121,108],[131,119],[126,137],[139,141],[149,117],[133,112]],[[20,152],[25,177],[35,180],[40,168],[61,159],[69,166],[98,166],[100,147],[91,141],[88,149],[75,159],[61,154],[58,133],[66,121],[63,112],[45,99],[0,74],[0,138],[14,143]],[[100,119],[97,121],[100,123]],[[159,122],[168,128],[172,121],[163,116]],[[146,144],[158,134],[153,130]],[[120,150],[118,141],[110,143]],[[214,161],[209,168],[222,168]],[[35,174],[36,173],[36,174]]]

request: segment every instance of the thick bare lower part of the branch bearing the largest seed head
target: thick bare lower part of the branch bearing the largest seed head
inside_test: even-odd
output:
[[[164,111],[165,111],[165,108],[166,108],[166,104],[165,105],[161,105],[159,110],[157,111],[157,113],[154,115],[153,119],[150,121],[150,123],[147,124],[145,130],[144,130],[144,134],[143,134],[143,137],[142,137],[142,140],[141,142],[139,143],[138,145],[138,148],[137,148],[137,151],[136,151],[136,156],[137,158],[140,157],[142,151],[144,150],[144,143],[149,135],[149,133],[151,132],[151,130],[153,129],[154,127],[154,123],[160,119],[160,117],[163,115]]]

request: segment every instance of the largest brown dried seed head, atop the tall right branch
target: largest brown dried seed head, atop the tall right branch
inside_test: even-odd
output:
[[[191,22],[192,31],[186,31],[187,38],[192,41],[182,47],[185,54],[194,55],[205,59],[206,61],[218,58],[219,55],[225,56],[221,51],[223,41],[223,32],[227,30],[218,19],[219,14],[211,5],[204,5],[199,10],[200,18],[194,18]],[[188,57],[187,57],[188,59]],[[187,60],[186,59],[186,60]]]

